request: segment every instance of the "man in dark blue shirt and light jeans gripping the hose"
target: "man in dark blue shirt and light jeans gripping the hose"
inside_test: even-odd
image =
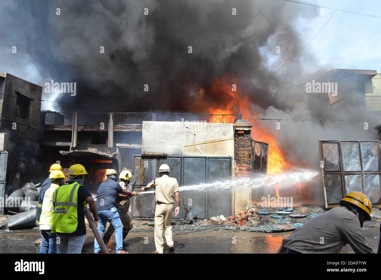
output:
[[[100,222],[98,223],[98,231],[102,236],[106,230],[107,222],[109,222],[115,229],[115,240],[117,254],[127,254],[128,252],[123,250],[123,225],[120,221],[119,213],[117,211],[117,197],[119,194],[131,195],[130,191],[123,190],[118,184],[117,172],[114,169],[107,169],[107,179],[102,182],[96,192],[96,207],[98,209],[98,217]],[[101,248],[98,241],[94,241],[94,253],[99,253]]]

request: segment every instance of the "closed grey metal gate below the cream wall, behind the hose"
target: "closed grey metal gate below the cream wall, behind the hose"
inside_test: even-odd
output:
[[[179,186],[212,183],[232,179],[232,158],[215,156],[134,156],[134,191],[146,186],[158,177],[161,164],[168,164],[170,177],[175,177]],[[232,190],[180,190],[180,199],[189,207],[198,219],[208,219],[213,216],[230,216],[232,213]],[[174,207],[176,207],[176,200]],[[134,196],[131,215],[133,218],[152,218],[155,209],[153,193]],[[184,217],[184,209],[176,218]],[[173,214],[174,216],[174,214]]]

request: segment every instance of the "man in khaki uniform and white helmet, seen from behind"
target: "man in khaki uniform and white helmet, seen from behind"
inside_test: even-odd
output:
[[[172,227],[171,218],[173,211],[174,196],[176,196],[176,209],[174,216],[180,211],[180,195],[179,184],[176,178],[171,178],[169,174],[169,166],[162,164],[159,168],[160,178],[155,178],[146,187],[141,188],[142,191],[155,187],[155,254],[163,254],[163,227],[165,229],[165,241],[169,246],[169,251],[173,252]]]

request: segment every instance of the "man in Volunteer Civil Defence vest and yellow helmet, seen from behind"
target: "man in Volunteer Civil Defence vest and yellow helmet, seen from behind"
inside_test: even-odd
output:
[[[57,233],[58,254],[80,254],[85,243],[85,208],[87,204],[98,222],[98,213],[93,197],[83,184],[88,174],[81,164],[69,169],[69,182],[53,194],[54,222],[51,232]]]

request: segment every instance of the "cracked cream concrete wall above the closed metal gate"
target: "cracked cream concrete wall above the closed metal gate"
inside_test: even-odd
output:
[[[234,158],[233,124],[143,122],[142,153]]]

